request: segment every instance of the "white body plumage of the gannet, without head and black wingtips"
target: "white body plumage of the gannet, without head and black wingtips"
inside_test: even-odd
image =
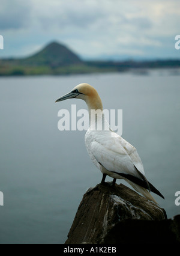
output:
[[[113,178],[118,178],[118,174],[113,173],[113,171],[139,177],[136,168],[145,175],[136,148],[115,132],[110,130],[92,131],[89,129],[85,135],[85,144],[89,156],[95,165],[101,169],[101,172],[104,172],[102,170],[103,165],[104,168],[112,172],[110,176]]]

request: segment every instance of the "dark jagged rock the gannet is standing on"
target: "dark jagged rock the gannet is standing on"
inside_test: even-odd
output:
[[[134,190],[116,184],[89,189],[65,244],[180,243],[180,215],[166,212]]]

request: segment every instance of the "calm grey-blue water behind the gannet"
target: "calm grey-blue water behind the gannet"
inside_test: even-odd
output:
[[[122,137],[137,148],[146,177],[166,198],[154,195],[168,218],[178,215],[179,79],[169,71],[0,78],[0,243],[64,243],[83,194],[100,183],[85,131],[58,130],[59,109],[86,105],[55,100],[82,82],[97,88],[104,108],[123,110]]]

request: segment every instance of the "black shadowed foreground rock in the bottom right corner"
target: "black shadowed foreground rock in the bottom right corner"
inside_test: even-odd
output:
[[[162,221],[125,219],[104,236],[109,244],[180,244],[180,215]]]

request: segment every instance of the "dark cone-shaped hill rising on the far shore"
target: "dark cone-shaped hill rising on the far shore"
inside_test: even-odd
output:
[[[74,52],[60,43],[50,43],[40,52],[21,60],[26,65],[59,67],[81,64],[83,61]]]

